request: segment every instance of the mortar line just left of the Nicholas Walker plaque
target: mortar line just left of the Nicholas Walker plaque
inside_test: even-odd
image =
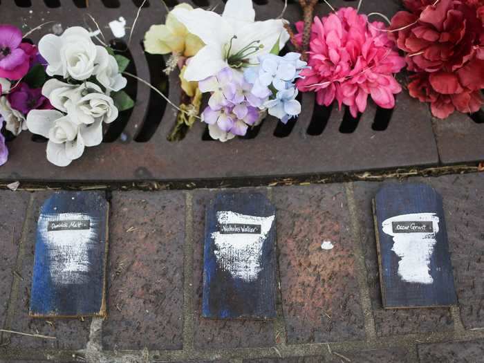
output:
[[[183,245],[183,351],[194,350],[194,291],[193,291],[193,195],[185,193],[185,244]]]

